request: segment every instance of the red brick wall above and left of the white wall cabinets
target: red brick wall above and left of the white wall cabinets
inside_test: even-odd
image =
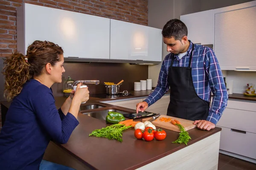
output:
[[[17,49],[16,10],[23,3],[148,25],[148,0],[0,0],[0,57]]]

